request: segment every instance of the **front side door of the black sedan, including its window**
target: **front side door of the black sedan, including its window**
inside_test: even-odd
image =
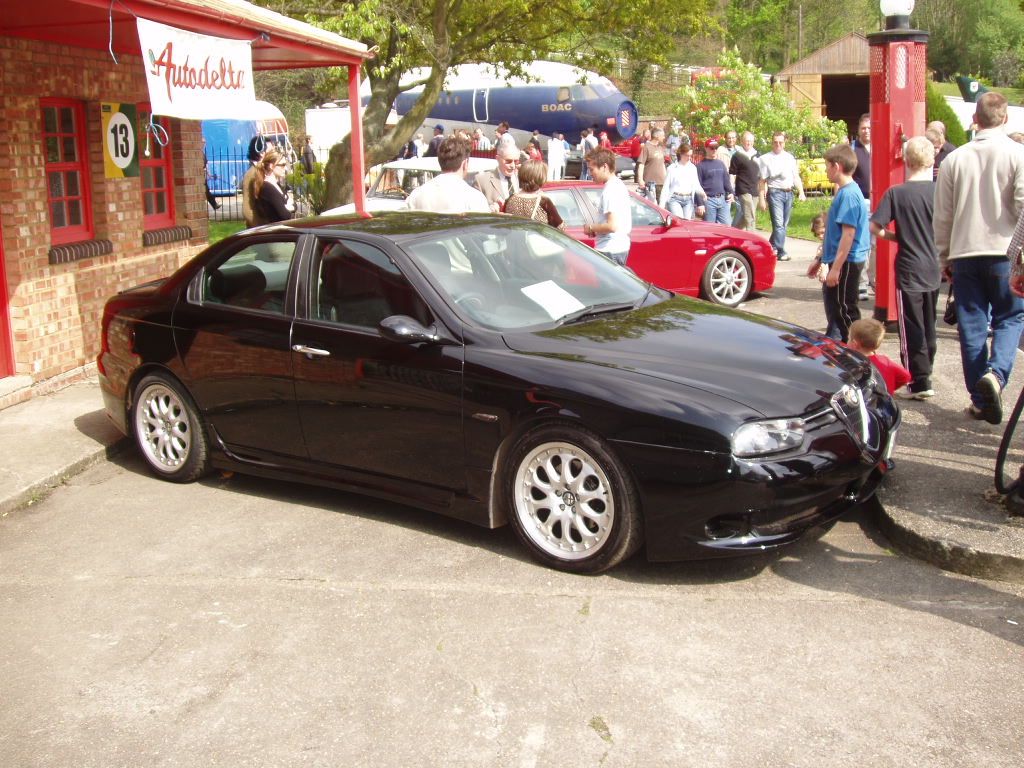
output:
[[[403,344],[378,331],[434,318],[381,249],[318,239],[306,319],[292,337],[295,391],[310,458],[439,488],[466,485],[461,345]]]

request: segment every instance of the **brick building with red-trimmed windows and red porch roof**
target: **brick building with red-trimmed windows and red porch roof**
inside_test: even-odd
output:
[[[0,407],[93,375],[106,298],[166,275],[206,245],[201,126],[155,117],[163,131],[146,130],[137,17],[252,40],[254,70],[348,67],[350,97],[370,55],[360,43],[244,0],[47,0],[6,8]],[[137,115],[137,176],[112,178],[104,166],[103,111],[112,104]],[[358,126],[353,147],[359,178]]]

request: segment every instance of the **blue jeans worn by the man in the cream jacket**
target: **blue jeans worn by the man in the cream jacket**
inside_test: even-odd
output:
[[[975,391],[978,379],[991,371],[1002,386],[1010,380],[1024,328],[1024,299],[1010,290],[1010,261],[1006,256],[973,256],[949,262],[959,327],[964,383],[971,401],[981,408]],[[988,326],[992,346],[988,346]]]

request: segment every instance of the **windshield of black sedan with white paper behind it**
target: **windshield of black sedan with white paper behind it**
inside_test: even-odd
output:
[[[404,248],[460,315],[497,331],[625,311],[650,295],[630,269],[529,221],[432,233]]]

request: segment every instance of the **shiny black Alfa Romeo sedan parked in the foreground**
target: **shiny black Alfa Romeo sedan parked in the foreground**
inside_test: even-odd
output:
[[[861,355],[497,215],[241,232],[112,298],[98,365],[160,477],[511,522],[581,573],[794,542],[874,493],[899,425]]]

